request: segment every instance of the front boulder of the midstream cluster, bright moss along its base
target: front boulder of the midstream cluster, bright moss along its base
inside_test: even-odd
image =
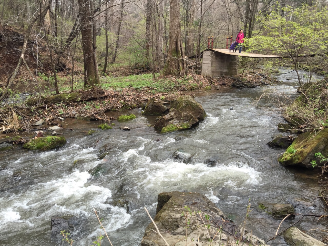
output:
[[[188,129],[197,124],[199,121],[193,114],[172,109],[168,114],[156,118],[154,128],[160,130],[161,133],[168,133]]]

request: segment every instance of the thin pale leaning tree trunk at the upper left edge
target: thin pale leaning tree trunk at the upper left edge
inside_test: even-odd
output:
[[[14,80],[16,78],[16,75],[19,71],[19,68],[20,66],[22,65],[22,61],[23,61],[23,57],[24,57],[24,53],[26,51],[26,48],[27,48],[27,42],[29,40],[29,37],[30,37],[30,33],[31,33],[31,30],[32,30],[32,27],[34,25],[34,23],[39,20],[39,19],[43,19],[44,16],[46,15],[46,13],[48,12],[49,8],[50,8],[50,5],[51,5],[51,0],[49,0],[45,5],[41,5],[42,9],[39,11],[39,15],[35,16],[33,19],[31,19],[31,22],[25,32],[25,36],[24,36],[24,43],[23,43],[23,47],[22,47],[22,52],[21,52],[21,56],[18,60],[18,63],[17,63],[17,66],[14,70],[14,72],[12,73],[10,79],[9,79],[9,83],[8,83],[8,86],[6,87],[5,91],[3,92],[2,96],[0,97],[0,101],[2,101],[3,99],[5,99],[7,97],[7,93],[8,93],[8,89],[13,87],[13,83],[14,83]]]

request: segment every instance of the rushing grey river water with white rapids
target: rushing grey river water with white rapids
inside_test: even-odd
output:
[[[295,75],[280,75],[278,80],[283,82],[272,89],[296,93]],[[264,239],[275,234],[280,220],[258,209],[261,200],[290,203],[309,199],[311,206],[297,212],[321,213],[321,202],[314,200],[319,189],[317,174],[280,166],[277,155],[284,150],[267,145],[278,134],[277,124],[283,119],[274,110],[253,104],[263,89],[198,94],[195,99],[208,116],[192,130],[161,135],[147,126],[155,117],[143,116],[136,109],[129,111],[136,119],[114,122],[112,130],[92,136],[86,133],[96,130],[99,122],[74,124],[66,119],[63,133],[68,143],[58,150],[1,152],[0,245],[67,245],[51,235],[50,220],[55,215],[81,217],[82,228],[72,234],[73,245],[91,245],[100,233],[92,208],[104,218],[114,246],[139,245],[150,222],[143,207],[154,216],[157,195],[166,191],[205,194],[237,224],[243,220],[250,198],[253,211],[247,226]],[[121,125],[131,131],[119,130]],[[99,160],[100,152],[108,155]],[[78,164],[73,166],[75,160]],[[92,176],[89,170],[97,166],[102,174]],[[124,202],[128,210],[117,206]],[[286,221],[281,228],[294,222]],[[317,224],[313,218],[299,223],[318,239],[320,231],[310,230],[326,230],[326,226],[323,220]],[[282,237],[270,244],[287,245]],[[108,242],[104,240],[102,245]]]

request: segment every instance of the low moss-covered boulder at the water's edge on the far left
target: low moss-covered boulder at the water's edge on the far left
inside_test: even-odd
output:
[[[23,147],[29,150],[52,150],[62,147],[65,143],[65,137],[48,136],[31,139]]]

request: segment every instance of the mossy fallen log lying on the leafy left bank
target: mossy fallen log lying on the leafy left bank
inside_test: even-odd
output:
[[[91,99],[96,99],[104,96],[106,96],[106,93],[103,90],[97,87],[92,87],[91,89],[85,91],[62,93],[54,96],[41,98],[41,102],[43,102],[44,104],[54,104],[54,103],[61,103],[61,102],[79,102],[79,101],[88,101]],[[39,98],[33,98],[27,100],[26,105],[29,106],[37,105],[39,103],[39,100],[40,100]]]

